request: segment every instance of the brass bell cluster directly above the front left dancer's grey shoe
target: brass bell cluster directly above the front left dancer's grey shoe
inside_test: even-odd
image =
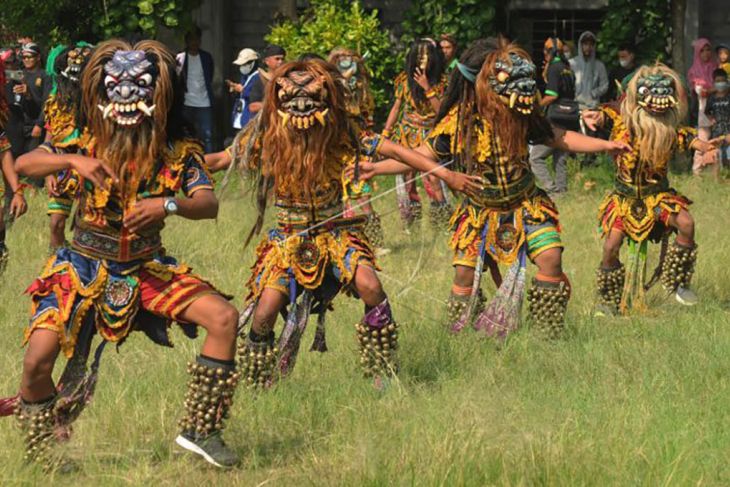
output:
[[[210,367],[198,362],[188,364],[192,377],[185,396],[184,432],[205,438],[221,431],[228,418],[240,374],[232,367]]]

